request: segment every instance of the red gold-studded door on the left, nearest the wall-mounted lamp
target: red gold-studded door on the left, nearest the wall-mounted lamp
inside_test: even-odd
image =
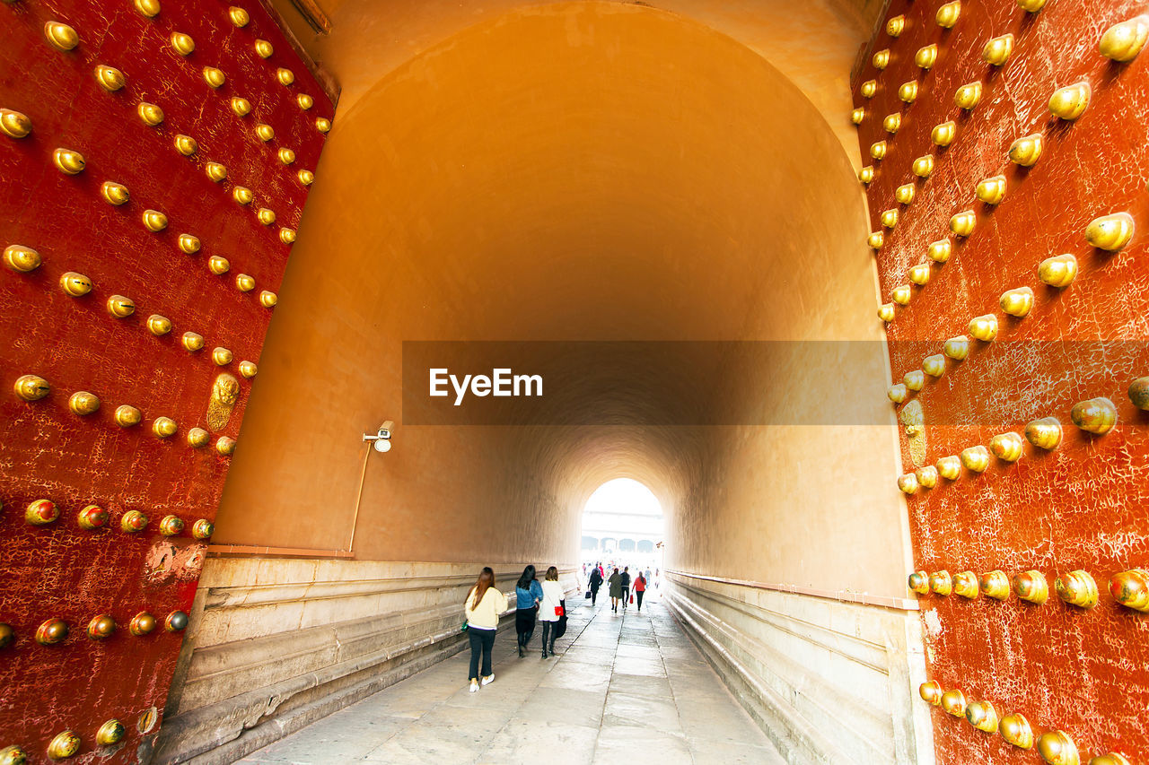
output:
[[[236,2],[0,5],[2,763],[162,725],[333,110]]]

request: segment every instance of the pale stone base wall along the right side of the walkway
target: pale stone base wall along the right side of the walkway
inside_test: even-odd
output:
[[[666,604],[789,763],[934,763],[915,603],[666,580]]]

